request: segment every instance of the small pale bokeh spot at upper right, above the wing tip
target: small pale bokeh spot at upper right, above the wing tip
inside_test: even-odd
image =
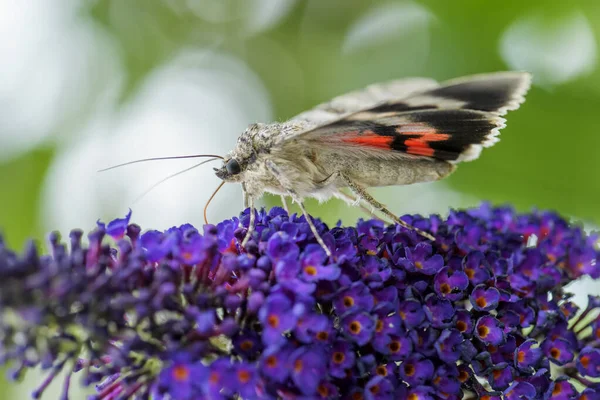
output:
[[[503,33],[499,48],[512,69],[533,73],[541,85],[588,74],[598,58],[594,30],[581,12],[552,19],[541,12],[519,18]]]

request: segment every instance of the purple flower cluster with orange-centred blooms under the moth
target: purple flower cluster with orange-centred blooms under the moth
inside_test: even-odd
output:
[[[400,226],[259,212],[147,231],[130,215],[50,254],[0,240],[0,360],[94,399],[600,399],[598,237],[483,204]]]

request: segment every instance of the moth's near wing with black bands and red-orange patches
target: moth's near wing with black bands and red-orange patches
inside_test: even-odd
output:
[[[524,101],[523,72],[475,75],[367,107],[294,135],[331,151],[378,158],[477,158],[498,141],[502,118]]]

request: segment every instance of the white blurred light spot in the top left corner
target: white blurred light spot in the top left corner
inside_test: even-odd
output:
[[[108,36],[78,2],[0,2],[0,161],[65,137],[119,86]]]

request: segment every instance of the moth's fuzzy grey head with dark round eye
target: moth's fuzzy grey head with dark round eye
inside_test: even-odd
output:
[[[256,160],[257,152],[254,139],[261,124],[252,124],[238,138],[235,148],[225,156],[221,168],[215,168],[215,174],[226,182],[243,182],[244,172]]]

